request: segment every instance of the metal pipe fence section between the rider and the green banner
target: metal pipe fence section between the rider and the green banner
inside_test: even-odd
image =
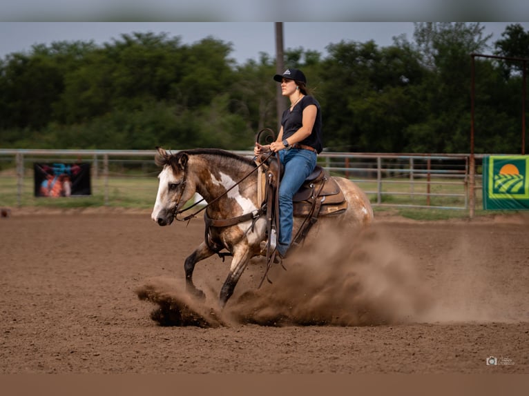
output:
[[[373,206],[468,209],[468,155],[328,153],[323,157],[329,171],[362,187]]]

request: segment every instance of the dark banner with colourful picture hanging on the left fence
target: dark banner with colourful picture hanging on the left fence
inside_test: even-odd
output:
[[[90,195],[90,164],[33,164],[35,197]]]

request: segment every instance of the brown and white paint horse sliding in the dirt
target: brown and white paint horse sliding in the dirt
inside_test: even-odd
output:
[[[250,259],[263,255],[261,244],[267,239],[267,216],[262,210],[262,202],[258,201],[258,177],[251,176],[258,164],[251,157],[214,148],[195,148],[176,153],[157,148],[155,163],[162,168],[151,213],[151,218],[158,225],[173,223],[195,193],[207,203],[204,241],[184,262],[186,290],[197,297],[204,297],[202,290],[193,284],[195,264],[211,255],[221,255],[220,250],[223,249],[229,252],[224,255],[233,256],[220,290],[219,303],[224,308]],[[338,215],[320,217],[316,225],[327,223],[362,228],[371,224],[373,210],[363,190],[349,179],[331,179],[340,186],[347,208]],[[296,230],[302,219],[296,217],[296,213],[294,216]],[[309,235],[317,232],[318,227],[312,228]]]

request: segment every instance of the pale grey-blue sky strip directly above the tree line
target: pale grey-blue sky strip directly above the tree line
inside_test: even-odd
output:
[[[528,22],[482,22],[484,34],[492,34],[490,44],[501,38],[506,26],[520,23],[529,30]],[[231,43],[231,57],[237,63],[258,60],[264,52],[275,56],[275,24],[273,22],[43,22],[0,21],[0,59],[12,52],[30,51],[35,44],[53,41],[94,41],[112,43],[121,34],[132,32],[167,33],[192,44],[205,37]],[[284,22],[285,50],[303,48],[316,50],[325,57],[329,43],[374,40],[378,46],[389,46],[393,37],[404,34],[412,41],[413,22]]]

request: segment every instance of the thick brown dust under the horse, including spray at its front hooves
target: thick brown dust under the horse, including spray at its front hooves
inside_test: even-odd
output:
[[[159,306],[151,318],[164,325],[373,326],[417,321],[432,305],[423,274],[380,230],[327,232],[299,248],[269,272],[272,283],[245,291],[222,312],[218,293],[199,302],[184,284],[151,279],[137,289],[140,299]]]

